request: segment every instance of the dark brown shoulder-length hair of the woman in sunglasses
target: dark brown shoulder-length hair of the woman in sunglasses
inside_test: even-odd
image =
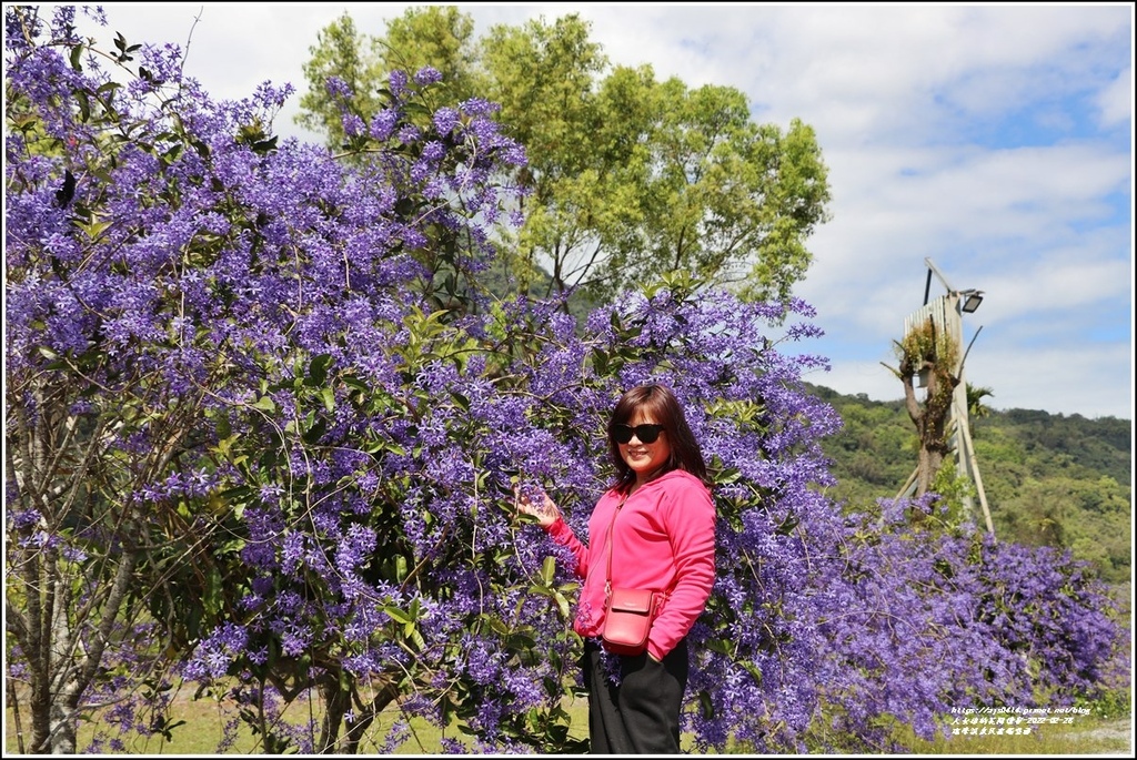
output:
[[[679,399],[675,398],[670,387],[655,383],[631,389],[620,396],[620,401],[612,410],[612,417],[608,419],[608,453],[616,468],[616,482],[613,487],[621,493],[626,493],[636,482],[636,471],[620,456],[615,428],[616,425],[629,424],[638,411],[645,412],[653,421],[663,425],[664,435],[667,436],[671,456],[661,468],[661,474],[670,473],[673,469],[686,470],[709,487],[711,482],[707,478],[703,450],[687,424],[687,415],[683,414]]]

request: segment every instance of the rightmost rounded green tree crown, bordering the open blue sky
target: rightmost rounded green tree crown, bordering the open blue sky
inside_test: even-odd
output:
[[[612,281],[626,286],[663,267],[754,300],[789,298],[829,198],[813,130],[796,119],[787,133],[756,125],[733,87],[688,90],[673,78],[659,85],[657,103],[641,224],[633,243],[606,259]]]

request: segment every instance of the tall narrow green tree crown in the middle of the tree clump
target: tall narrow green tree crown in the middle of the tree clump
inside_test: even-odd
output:
[[[628,135],[644,128],[646,109],[632,102],[642,98],[641,87],[623,76],[607,98],[597,93],[608,61],[588,31],[576,16],[553,25],[534,19],[495,26],[480,42],[485,97],[501,105],[500,120],[529,157],[516,177],[530,195],[512,265],[522,286],[546,279],[546,294],[576,285],[597,290],[604,240],[634,214],[620,194],[625,177],[637,176],[636,140]],[[625,107],[622,119],[608,118],[612,99]]]

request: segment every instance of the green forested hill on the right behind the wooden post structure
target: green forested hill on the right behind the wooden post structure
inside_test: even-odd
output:
[[[916,465],[904,402],[810,387],[845,420],[822,442],[839,482],[830,495],[896,496]],[[1131,577],[1132,420],[988,410],[972,417],[971,436],[996,537],[1070,549],[1111,583]]]

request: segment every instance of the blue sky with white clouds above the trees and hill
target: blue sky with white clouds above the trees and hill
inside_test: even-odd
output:
[[[107,3],[80,28],[181,45],[217,100],[291,83],[273,127],[318,142],[293,117],[319,31],[347,12],[382,36],[412,5]],[[807,382],[903,398],[885,365],[932,273],[932,299],[982,291],[963,337],[988,407],[1132,420],[1132,3],[457,5],[475,35],[578,14],[613,65],[814,128],[830,219],[795,294],[824,331],[800,350],[830,369]]]

